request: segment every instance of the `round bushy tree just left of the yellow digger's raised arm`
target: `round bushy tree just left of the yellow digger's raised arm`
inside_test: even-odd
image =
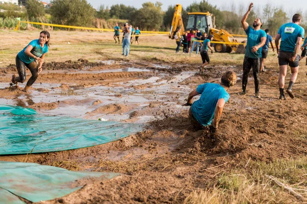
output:
[[[146,2],[142,8],[135,11],[130,22],[142,30],[159,30],[163,23],[162,3]]]

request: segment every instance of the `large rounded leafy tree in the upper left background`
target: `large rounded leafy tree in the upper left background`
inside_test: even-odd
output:
[[[54,23],[76,26],[91,25],[95,9],[86,0],[53,0],[50,8]]]

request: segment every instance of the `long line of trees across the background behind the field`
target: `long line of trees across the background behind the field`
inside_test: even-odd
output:
[[[128,21],[135,27],[138,26],[141,30],[147,31],[168,31],[171,27],[171,21],[174,13],[175,5],[168,6],[166,11],[162,10],[162,3],[147,2],[143,3],[142,7],[137,9],[124,4],[116,4],[110,8],[101,5],[95,10],[86,0],[52,0],[50,8],[44,8],[37,0],[27,0],[25,12],[15,5],[0,5],[0,9],[5,12],[0,12],[0,18],[5,17],[27,17],[39,21],[48,21],[55,24],[76,25],[84,27],[97,27],[97,19],[111,21],[105,27],[113,28],[113,24],[118,19],[118,22]],[[4,8],[6,6],[6,8]],[[14,7],[15,6],[15,10]],[[244,7],[246,6],[246,8]],[[187,23],[188,12],[207,12],[209,11],[215,16],[215,25],[217,29],[225,29],[230,33],[244,34],[240,20],[243,13],[247,10],[248,5],[238,5],[234,3],[227,10],[222,11],[216,6],[211,5],[208,1],[203,0],[199,3],[193,2],[186,8],[183,8],[182,17],[184,24]],[[293,12],[294,14],[295,12]],[[297,12],[296,12],[297,13]],[[301,13],[302,12],[298,12]],[[262,29],[270,29],[271,34],[275,35],[278,28],[283,23],[291,20],[291,13],[287,14],[282,8],[274,7],[270,4],[252,10],[248,23],[252,24],[256,17],[260,17],[264,24]],[[290,16],[291,15],[291,16]],[[307,15],[302,15],[306,16]],[[303,19],[302,27],[307,27],[306,20]]]

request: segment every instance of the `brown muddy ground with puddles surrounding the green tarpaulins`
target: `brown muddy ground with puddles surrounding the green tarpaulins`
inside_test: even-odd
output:
[[[145,128],[108,144],[0,160],[21,162],[27,157],[28,162],[69,170],[122,173],[117,179],[93,180],[68,196],[41,203],[301,201],[265,175],[300,189],[298,193],[307,197],[306,66],[301,64],[294,85],[296,97],[281,101],[276,56],[260,75],[260,99],[254,97],[252,77],[247,95],[239,94],[242,67],[228,65],[222,55],[212,57],[220,61],[204,74],[198,73],[199,62],[186,63],[187,56],[178,56],[181,63],[137,57],[49,61],[30,93],[9,88],[15,67],[2,67],[1,104],[30,107],[47,115],[144,123]],[[199,84],[219,83],[226,70],[235,71],[239,80],[229,90],[217,133],[194,131],[189,107],[182,104]]]

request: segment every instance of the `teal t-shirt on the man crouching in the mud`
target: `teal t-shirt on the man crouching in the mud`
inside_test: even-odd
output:
[[[201,97],[199,100],[194,101],[191,106],[191,112],[200,124],[204,126],[210,125],[217,100],[224,98],[226,103],[229,99],[229,94],[220,84],[213,83],[201,84],[196,88],[196,91],[201,94]]]

